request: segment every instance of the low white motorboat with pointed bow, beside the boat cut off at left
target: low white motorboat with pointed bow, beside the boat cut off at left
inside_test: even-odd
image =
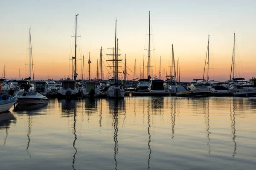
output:
[[[48,98],[38,92],[24,93],[23,91],[20,91],[17,93],[17,98],[17,103],[19,105],[37,105],[48,102]]]

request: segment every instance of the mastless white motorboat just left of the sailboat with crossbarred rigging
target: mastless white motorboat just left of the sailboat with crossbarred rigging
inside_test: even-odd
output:
[[[102,92],[99,90],[99,86],[96,81],[84,82],[84,97],[99,97]]]

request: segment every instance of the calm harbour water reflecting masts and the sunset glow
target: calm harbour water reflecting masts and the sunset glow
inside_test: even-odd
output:
[[[54,99],[40,107],[0,114],[0,169],[256,167],[256,98]]]

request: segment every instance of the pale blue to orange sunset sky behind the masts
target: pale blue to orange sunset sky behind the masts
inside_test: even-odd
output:
[[[128,79],[143,72],[143,55],[147,65],[148,12],[151,11],[151,66],[153,74],[163,68],[169,75],[172,44],[175,62],[180,59],[180,80],[203,78],[209,48],[209,79],[230,78],[233,33],[236,35],[236,77],[255,77],[256,1],[254,0],[0,0],[0,74],[6,65],[6,78],[29,77],[29,28],[35,79],[72,77],[70,58],[74,56],[75,14],[77,17],[77,59],[84,56],[84,79],[96,76],[100,47],[103,49],[104,79],[112,72],[106,60],[115,42],[117,20],[120,58],[125,58]],[[82,60],[77,62],[82,77]],[[123,64],[122,68],[124,69]],[[140,67],[141,65],[141,67]],[[176,65],[177,67],[177,65]],[[141,71],[140,71],[141,70]],[[145,68],[146,72],[146,68]],[[146,75],[146,74],[145,74]],[[152,74],[151,74],[152,75]],[[0,75],[1,76],[1,75]],[[123,75],[120,75],[121,77]],[[146,77],[146,76],[145,76]]]

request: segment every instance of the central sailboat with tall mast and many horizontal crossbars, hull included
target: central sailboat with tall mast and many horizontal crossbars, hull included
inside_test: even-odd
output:
[[[113,59],[108,61],[113,62],[113,78],[108,79],[107,86],[108,90],[106,91],[107,97],[112,98],[123,98],[125,96],[125,86],[122,83],[122,80],[118,78],[118,62],[121,61],[118,59],[118,39],[116,39],[115,31],[115,48],[113,48],[114,54],[108,54],[113,56]]]

